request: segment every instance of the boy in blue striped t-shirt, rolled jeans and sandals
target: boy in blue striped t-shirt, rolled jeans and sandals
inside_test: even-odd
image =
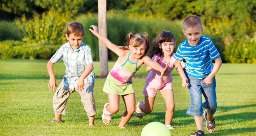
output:
[[[188,16],[183,22],[183,28],[187,39],[180,44],[174,55],[175,68],[182,78],[182,86],[187,87],[190,93],[191,104],[186,114],[194,116],[198,130],[191,136],[203,136],[203,116],[208,131],[216,129],[213,119],[217,108],[215,75],[222,61],[211,39],[201,36],[203,27],[198,16]],[[185,73],[180,64],[183,59],[186,60]],[[215,60],[214,66],[212,60]],[[201,94],[206,100],[204,103]],[[203,111],[203,107],[206,110]]]

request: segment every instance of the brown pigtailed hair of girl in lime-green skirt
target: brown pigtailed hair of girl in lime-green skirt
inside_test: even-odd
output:
[[[133,47],[140,47],[143,43],[145,43],[145,53],[147,54],[147,51],[149,50],[149,36],[147,33],[142,34],[135,34],[133,35],[131,32],[128,33],[127,37],[127,45],[121,47],[121,49],[126,50],[129,49],[129,45]]]

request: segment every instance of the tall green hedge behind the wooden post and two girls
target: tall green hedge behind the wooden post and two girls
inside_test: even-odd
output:
[[[92,49],[93,60],[99,60],[99,46],[98,38],[90,32],[90,25],[98,26],[97,14],[81,15],[76,19],[79,23],[83,24],[85,29],[85,38],[83,42],[88,44]],[[161,33],[161,30],[169,30],[174,33],[176,37],[176,44],[183,42],[186,37],[183,34],[183,26],[180,21],[166,21],[163,19],[146,19],[134,16],[123,17],[122,14],[107,13],[107,33],[108,39],[115,45],[121,46],[126,42],[126,35],[129,32],[149,34],[150,41],[156,35]],[[176,51],[175,51],[176,52]],[[109,50],[109,60],[117,60],[118,56]]]

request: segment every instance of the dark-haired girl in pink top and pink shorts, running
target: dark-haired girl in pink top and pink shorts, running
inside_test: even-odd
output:
[[[162,67],[168,66],[166,73],[160,78],[161,73],[146,66],[146,70],[152,70],[149,75],[147,75],[147,80],[145,88],[143,89],[143,94],[145,94],[145,103],[139,101],[137,103],[137,108],[135,114],[138,118],[143,117],[143,113],[149,114],[153,110],[154,101],[156,98],[157,91],[160,90],[161,95],[166,103],[166,115],[165,115],[165,125],[168,129],[174,129],[170,124],[174,115],[174,97],[173,97],[173,87],[171,72],[175,68],[175,59],[173,58],[173,50],[175,48],[175,36],[168,30],[164,30],[156,39],[153,40],[152,49],[149,52],[150,57],[153,61],[158,61]],[[185,66],[185,63],[181,63]]]

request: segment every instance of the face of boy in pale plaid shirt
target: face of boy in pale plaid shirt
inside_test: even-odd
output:
[[[83,36],[77,36],[73,33],[69,34],[69,36],[66,34],[66,39],[69,40],[69,44],[71,45],[72,49],[77,49],[83,42]]]

